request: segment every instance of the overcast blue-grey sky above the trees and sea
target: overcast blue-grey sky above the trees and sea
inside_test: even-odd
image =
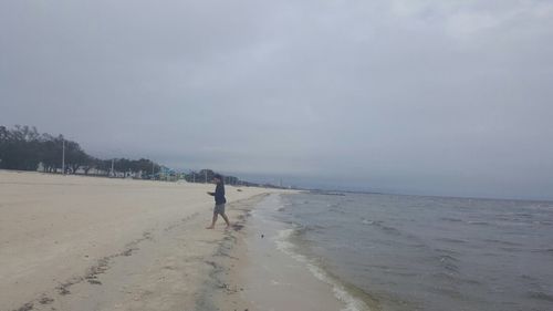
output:
[[[553,1],[0,0],[0,125],[303,187],[553,199]]]

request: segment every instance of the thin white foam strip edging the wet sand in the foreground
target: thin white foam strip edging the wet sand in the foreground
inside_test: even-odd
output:
[[[365,302],[348,293],[344,286],[328,276],[328,273],[321,269],[313,260],[294,251],[294,245],[290,242],[290,237],[293,232],[293,229],[280,230],[275,238],[276,248],[293,259],[304,263],[315,278],[331,286],[334,296],[345,304],[345,308],[341,311],[369,311],[371,309]]]

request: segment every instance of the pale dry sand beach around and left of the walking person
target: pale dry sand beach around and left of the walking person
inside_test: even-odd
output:
[[[223,274],[240,261],[246,212],[276,190],[227,186],[233,228],[206,230],[212,189],[0,170],[0,310],[246,305],[225,299],[240,289]]]

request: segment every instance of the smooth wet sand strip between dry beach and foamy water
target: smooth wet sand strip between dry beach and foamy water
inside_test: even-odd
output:
[[[217,266],[222,290],[216,291],[212,310],[366,310],[336,292],[337,284],[325,280],[323,270],[283,249],[283,234],[291,229],[268,217],[280,208],[278,196],[265,195],[246,214],[247,226],[236,235],[230,260]]]

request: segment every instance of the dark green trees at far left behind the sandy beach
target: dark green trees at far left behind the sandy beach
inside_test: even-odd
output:
[[[13,128],[0,126],[0,168],[19,170],[65,172],[84,175],[109,175],[119,173],[143,173],[156,175],[160,166],[150,159],[101,159],[86,154],[77,142],[63,135],[53,136],[39,133],[36,127],[15,125]],[[113,170],[112,170],[113,166]]]

